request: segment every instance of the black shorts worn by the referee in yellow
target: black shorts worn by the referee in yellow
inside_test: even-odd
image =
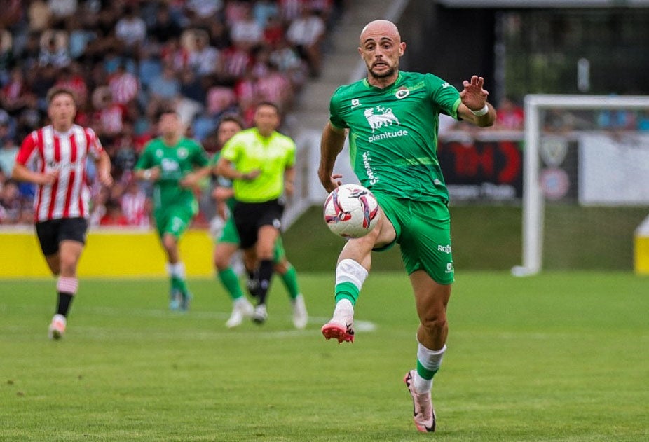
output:
[[[261,226],[273,226],[280,230],[284,205],[279,200],[266,202],[240,202],[233,210],[234,224],[239,233],[240,247],[250,249],[257,242]]]

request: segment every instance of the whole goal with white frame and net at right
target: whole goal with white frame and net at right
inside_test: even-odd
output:
[[[523,260],[540,270],[630,270],[649,216],[649,97],[525,98]]]

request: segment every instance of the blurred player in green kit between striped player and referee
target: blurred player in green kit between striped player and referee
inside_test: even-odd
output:
[[[144,146],[135,165],[135,177],[153,183],[153,216],[167,255],[172,310],[189,308],[191,294],[180,259],[178,242],[198,213],[194,187],[210,174],[207,153],[197,141],[182,134],[178,113],[165,109],[158,117],[159,137]]]

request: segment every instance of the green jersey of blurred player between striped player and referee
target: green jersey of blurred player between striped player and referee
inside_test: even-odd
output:
[[[171,205],[197,204],[193,189],[184,188],[179,181],[195,167],[207,166],[207,153],[196,141],[181,138],[175,146],[167,146],[156,138],[144,147],[135,170],[158,167],[160,178],[153,185],[153,205],[164,209]]]

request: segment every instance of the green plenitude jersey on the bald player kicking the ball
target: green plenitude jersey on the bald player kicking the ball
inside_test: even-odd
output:
[[[437,161],[439,113],[458,118],[460,93],[432,74],[399,72],[388,88],[367,79],[332,95],[332,125],[349,128],[350,159],[363,186],[397,198],[449,199]]]

